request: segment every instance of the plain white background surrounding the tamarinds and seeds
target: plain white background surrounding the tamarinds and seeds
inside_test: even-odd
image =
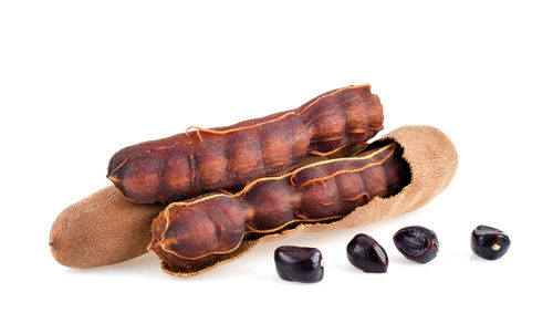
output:
[[[551,331],[552,32],[549,1],[2,1],[2,333],[545,333]],[[91,270],[60,265],[48,239],[66,206],[109,185],[119,148],[294,108],[368,82],[382,133],[439,127],[459,169],[428,206],[352,230],[257,246],[175,278],[154,254]],[[471,230],[512,240],[472,255]],[[420,265],[392,236],[438,234]],[[385,274],[346,259],[358,232]],[[317,284],[281,281],[281,244],[317,247]]]

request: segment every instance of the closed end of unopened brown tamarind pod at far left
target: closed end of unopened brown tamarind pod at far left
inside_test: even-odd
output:
[[[115,186],[103,188],[63,210],[50,231],[58,262],[92,268],[123,262],[147,252],[152,220],[161,205],[136,205]]]

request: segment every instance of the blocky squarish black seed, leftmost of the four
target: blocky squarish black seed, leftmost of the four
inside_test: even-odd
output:
[[[315,283],[323,279],[323,257],[316,248],[282,246],[274,250],[279,276],[286,281]]]

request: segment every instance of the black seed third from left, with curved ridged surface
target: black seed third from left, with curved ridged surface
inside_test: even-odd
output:
[[[439,249],[436,233],[421,226],[410,226],[394,234],[394,243],[407,259],[426,263],[436,258]]]

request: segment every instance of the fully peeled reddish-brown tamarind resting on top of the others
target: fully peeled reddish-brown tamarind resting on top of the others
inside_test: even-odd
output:
[[[126,147],[112,157],[107,177],[134,202],[181,200],[364,143],[383,128],[383,118],[368,84],[343,87],[289,112]]]

